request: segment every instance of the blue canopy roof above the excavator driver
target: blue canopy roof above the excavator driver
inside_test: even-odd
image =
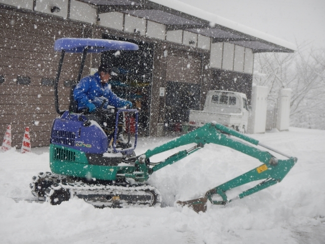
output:
[[[83,52],[85,47],[90,47],[88,52],[100,53],[108,50],[138,50],[138,45],[127,41],[115,41],[107,39],[91,38],[61,38],[54,43],[54,50],[79,53]]]

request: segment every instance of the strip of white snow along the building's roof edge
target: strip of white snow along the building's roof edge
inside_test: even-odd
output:
[[[173,9],[175,9],[177,11],[180,11],[180,12],[184,12],[184,13],[193,15],[195,17],[208,20],[208,21],[211,22],[212,25],[218,24],[218,25],[221,25],[221,26],[224,26],[224,27],[227,27],[227,28],[242,32],[244,34],[248,34],[248,35],[257,37],[259,39],[274,43],[276,45],[280,45],[280,46],[283,46],[285,48],[289,48],[291,50],[297,50],[296,45],[289,42],[289,41],[286,41],[286,40],[280,39],[278,37],[269,35],[267,33],[259,31],[259,30],[255,30],[255,29],[253,29],[251,27],[248,27],[248,26],[245,26],[243,24],[237,23],[235,21],[232,21],[232,20],[226,19],[224,17],[218,16],[218,15],[216,15],[214,13],[207,12],[207,11],[205,11],[203,9],[191,6],[191,5],[187,4],[187,3],[184,3],[184,2],[181,2],[181,1],[178,1],[178,0],[151,0],[151,1],[155,2],[155,3],[158,3],[158,4],[161,4],[161,5],[164,5],[166,7],[173,8]]]

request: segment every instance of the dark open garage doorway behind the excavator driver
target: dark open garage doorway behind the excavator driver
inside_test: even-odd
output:
[[[111,76],[111,90],[120,98],[129,100],[139,111],[138,133],[149,135],[151,81],[154,45],[113,35],[103,39],[129,41],[139,46],[137,51],[103,52],[101,62],[108,62],[116,76]]]

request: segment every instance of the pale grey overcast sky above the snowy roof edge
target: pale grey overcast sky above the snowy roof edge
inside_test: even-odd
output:
[[[325,48],[325,0],[179,0],[289,42]]]

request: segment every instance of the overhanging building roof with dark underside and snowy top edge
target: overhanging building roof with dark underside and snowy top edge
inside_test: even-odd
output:
[[[257,52],[294,52],[296,45],[220,17],[178,0],[82,0],[98,6],[99,13],[123,12],[165,24],[167,30],[187,30]]]

